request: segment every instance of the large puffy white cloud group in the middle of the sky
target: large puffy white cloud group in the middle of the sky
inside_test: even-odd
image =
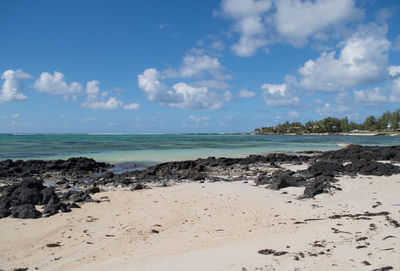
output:
[[[217,58],[203,51],[191,50],[178,69],[146,69],[138,75],[138,86],[149,101],[162,105],[183,109],[218,109],[223,102],[233,99],[228,90],[230,85],[226,82],[230,76],[224,74],[224,70]],[[178,79],[178,82],[167,85],[165,81],[171,79]]]

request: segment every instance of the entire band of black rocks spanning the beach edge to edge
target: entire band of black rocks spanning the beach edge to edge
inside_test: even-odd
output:
[[[101,186],[129,187],[138,190],[149,183],[253,181],[274,190],[304,187],[302,198],[340,189],[337,177],[356,174],[390,176],[400,174],[400,167],[381,160],[399,162],[400,146],[367,147],[350,145],[327,152],[307,152],[301,155],[271,153],[246,158],[215,158],[167,162],[142,170],[121,174],[107,171],[112,165],[88,158],[56,161],[0,161],[0,218],[6,216],[37,218],[78,207],[77,202],[92,201],[91,193]],[[305,170],[285,170],[282,164],[301,165]],[[50,174],[50,175],[49,175]],[[46,187],[49,176],[54,187]],[[34,178],[33,178],[34,177]],[[35,205],[42,205],[43,211]]]

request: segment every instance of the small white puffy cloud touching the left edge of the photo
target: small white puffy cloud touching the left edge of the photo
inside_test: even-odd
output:
[[[1,75],[1,79],[5,80],[0,92],[0,103],[8,101],[23,101],[27,97],[20,91],[24,85],[21,79],[28,79],[31,76],[22,70],[7,70]]]

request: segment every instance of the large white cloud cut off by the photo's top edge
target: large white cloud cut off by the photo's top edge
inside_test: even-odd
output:
[[[222,0],[217,14],[233,20],[240,36],[231,50],[249,57],[279,40],[301,45],[310,37],[328,39],[331,30],[362,19],[364,11],[355,0]]]

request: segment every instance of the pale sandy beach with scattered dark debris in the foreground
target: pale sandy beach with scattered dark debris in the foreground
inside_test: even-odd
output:
[[[400,176],[343,177],[339,184],[343,191],[315,200],[297,200],[299,188],[271,191],[246,183],[96,194],[110,202],[43,219],[1,219],[0,269],[400,270],[400,228],[385,216],[328,218],[387,211],[400,222]],[[376,202],[382,205],[373,208]],[[295,224],[310,218],[322,220]],[[387,236],[393,237],[383,240]],[[360,237],[367,239],[356,241]],[[56,242],[59,247],[46,246]],[[289,253],[258,253],[267,248]]]

